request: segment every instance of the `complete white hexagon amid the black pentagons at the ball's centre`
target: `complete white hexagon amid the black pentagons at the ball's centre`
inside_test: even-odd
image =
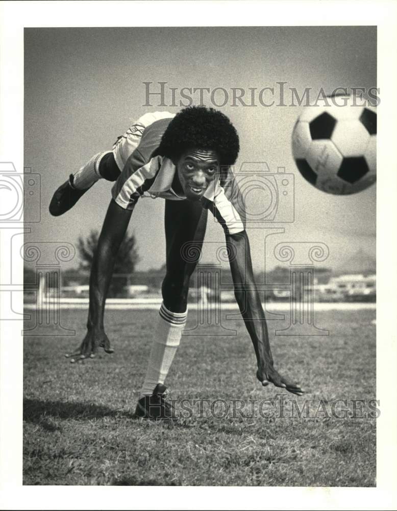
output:
[[[369,134],[360,121],[338,121],[332,133],[332,142],[343,156],[362,156],[369,142]]]

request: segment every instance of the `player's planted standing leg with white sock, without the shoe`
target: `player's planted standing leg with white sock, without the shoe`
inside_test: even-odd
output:
[[[154,328],[152,350],[141,396],[152,394],[163,384],[181,341],[187,317],[189,281],[196,263],[181,254],[184,243],[194,241],[200,250],[207,225],[207,210],[200,202],[165,203],[166,267],[162,285],[163,303]]]

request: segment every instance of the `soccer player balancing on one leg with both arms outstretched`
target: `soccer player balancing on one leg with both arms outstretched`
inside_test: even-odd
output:
[[[75,362],[94,357],[98,347],[113,352],[104,329],[104,309],[117,250],[139,197],[165,199],[163,302],[153,329],[137,416],[173,416],[164,380],[185,327],[189,280],[196,265],[181,249],[191,242],[201,250],[208,210],[225,231],[235,297],[254,345],[258,380],[264,386],[271,382],[302,396],[300,385],[282,377],[271,356],[254,282],[243,198],[230,169],[238,152],[237,132],[220,111],[200,106],[185,108],[176,115],[147,113],[118,137],[112,151],[96,154],[70,175],[49,205],[52,215],[62,215],[98,179],[115,181],[91,267],[87,334],[78,350],[67,355]]]

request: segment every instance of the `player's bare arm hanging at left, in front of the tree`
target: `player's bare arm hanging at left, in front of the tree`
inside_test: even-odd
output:
[[[126,234],[131,214],[132,211],[123,209],[111,200],[91,266],[87,334],[80,347],[66,355],[71,362],[86,357],[93,358],[98,347],[103,347],[106,353],[114,351],[104,329],[105,301],[116,255]]]

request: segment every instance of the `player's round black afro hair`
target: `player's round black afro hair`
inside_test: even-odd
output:
[[[175,161],[192,148],[215,151],[220,165],[233,165],[240,149],[237,131],[219,110],[188,106],[169,123],[157,152]]]

